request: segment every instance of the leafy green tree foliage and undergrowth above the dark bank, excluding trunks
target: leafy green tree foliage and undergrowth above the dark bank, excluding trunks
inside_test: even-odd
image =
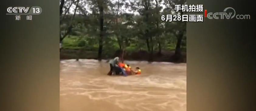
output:
[[[76,0],[67,0],[64,9]],[[173,10],[174,4],[182,4],[182,0],[80,0],[74,19],[73,14],[62,17],[61,34],[66,33],[68,26],[72,26],[71,32],[63,40],[65,49],[84,49],[98,51],[100,35],[100,12],[104,10],[103,26],[103,54],[111,56],[116,50],[125,49],[128,53],[148,50],[146,40],[149,40],[153,51],[158,50],[161,44],[162,50],[175,50],[179,31],[184,31],[185,23],[163,22],[161,15],[180,14]],[[157,5],[158,4],[158,5]],[[165,5],[163,9],[163,5]],[[139,12],[139,15],[128,13]],[[65,13],[64,11],[64,13]],[[89,13],[90,12],[90,13]],[[151,40],[152,39],[152,40]],[[186,31],[182,39],[182,50],[186,49]]]

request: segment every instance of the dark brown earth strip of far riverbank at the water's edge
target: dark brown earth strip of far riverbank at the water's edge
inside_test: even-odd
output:
[[[152,61],[156,62],[175,62],[175,63],[186,63],[186,52],[183,51],[179,59],[173,57],[175,54],[174,50],[171,51],[162,51],[161,54],[154,53]],[[112,59],[116,56],[120,56],[121,52],[119,50],[112,53],[103,53],[102,59]],[[60,59],[97,59],[97,51],[88,51],[88,50],[75,50],[75,49],[62,49],[60,52]],[[131,61],[148,61],[150,54],[147,51],[136,51],[136,52],[125,52],[124,59]]]

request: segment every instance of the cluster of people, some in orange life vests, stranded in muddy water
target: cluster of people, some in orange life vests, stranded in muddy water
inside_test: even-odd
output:
[[[136,68],[135,71],[132,70],[129,64],[124,64],[119,61],[119,57],[115,57],[114,59],[109,61],[110,71],[108,75],[140,75],[141,70],[139,67]]]

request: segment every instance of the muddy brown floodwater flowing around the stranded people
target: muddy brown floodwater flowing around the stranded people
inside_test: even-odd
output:
[[[141,75],[108,76],[106,61],[61,60],[61,111],[186,111],[186,64],[125,61]]]

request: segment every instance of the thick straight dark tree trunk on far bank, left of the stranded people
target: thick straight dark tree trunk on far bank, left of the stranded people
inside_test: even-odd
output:
[[[99,11],[100,11],[100,18],[99,18],[99,22],[100,22],[100,35],[99,35],[99,50],[98,50],[98,60],[102,59],[102,49],[103,49],[103,22],[104,22],[104,18],[103,18],[103,6],[102,3],[99,4]]]

